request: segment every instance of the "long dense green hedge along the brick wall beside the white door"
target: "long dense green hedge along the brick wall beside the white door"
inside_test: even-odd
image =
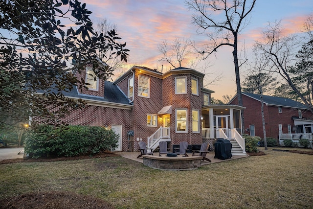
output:
[[[96,154],[114,150],[118,135],[112,129],[97,126],[67,126],[66,128],[40,125],[26,133],[25,153],[33,158]]]

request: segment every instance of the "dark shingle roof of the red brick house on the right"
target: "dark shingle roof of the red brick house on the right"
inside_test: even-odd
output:
[[[249,96],[253,99],[256,99],[258,101],[261,101],[261,95],[260,94],[255,94],[255,93],[242,93],[246,96]],[[272,106],[281,106],[281,107],[290,107],[290,108],[297,108],[297,109],[308,109],[308,107],[301,103],[294,101],[292,99],[288,98],[283,98],[283,97],[277,97],[277,96],[268,96],[268,95],[263,95],[263,101],[267,105],[272,105]]]

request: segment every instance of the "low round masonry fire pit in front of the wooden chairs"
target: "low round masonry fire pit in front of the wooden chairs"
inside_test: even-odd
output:
[[[200,156],[168,157],[143,155],[143,164],[160,170],[194,170],[201,166]]]

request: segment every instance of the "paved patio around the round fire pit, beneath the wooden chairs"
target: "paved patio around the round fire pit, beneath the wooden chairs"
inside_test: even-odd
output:
[[[128,159],[143,163],[143,157],[137,158],[137,156],[140,155],[140,152],[117,152],[116,154],[118,154],[124,158],[128,158]],[[154,155],[158,156],[158,152],[155,152]],[[191,156],[191,153],[187,153],[187,155]],[[166,156],[166,154],[163,154],[162,156]],[[229,158],[226,160],[220,160],[220,159],[214,159],[214,156],[215,156],[214,151],[207,153],[206,158],[210,159],[212,162],[210,163],[207,161],[201,161],[201,165],[207,165],[207,164],[212,164],[212,163],[221,163],[221,162],[225,162],[225,161],[231,161],[231,160],[236,160],[236,159],[248,157],[248,155],[246,155],[246,156],[233,155],[232,158]],[[188,158],[188,157],[182,157],[182,156],[178,156],[178,157],[179,158]]]

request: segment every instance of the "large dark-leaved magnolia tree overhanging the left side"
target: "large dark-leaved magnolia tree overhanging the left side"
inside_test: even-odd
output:
[[[111,52],[107,59],[127,61],[126,43],[119,43],[114,30],[94,32],[91,12],[78,0],[1,0],[0,14],[0,126],[29,116],[59,123],[70,109],[85,104],[63,94],[76,86],[88,88],[85,80],[74,77],[75,70],[92,63],[95,74],[107,79],[112,68],[98,68],[95,55]],[[74,26],[66,26],[70,24]],[[57,100],[62,105],[48,111],[46,105]]]

